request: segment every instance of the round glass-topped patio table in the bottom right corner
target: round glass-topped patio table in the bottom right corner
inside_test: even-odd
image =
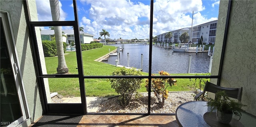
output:
[[[204,113],[211,111],[206,103],[207,101],[189,101],[181,104],[175,114],[178,124],[181,127],[210,127],[204,121]],[[235,115],[233,118],[239,119]],[[256,117],[246,112],[242,112],[240,122],[244,127],[256,127]]]

